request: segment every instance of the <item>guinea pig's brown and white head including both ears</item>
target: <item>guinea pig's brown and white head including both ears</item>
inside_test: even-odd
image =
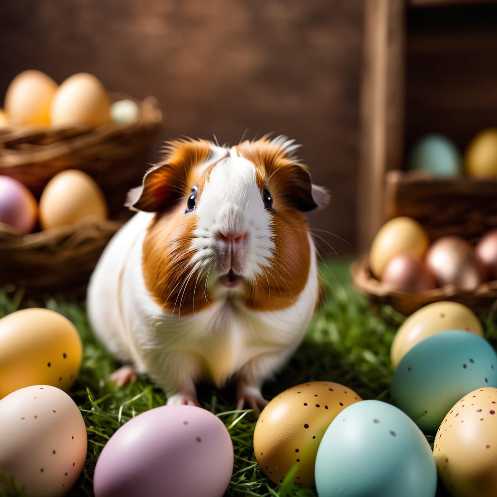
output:
[[[127,205],[154,212],[143,245],[147,289],[186,315],[215,301],[268,311],[291,306],[311,265],[306,212],[328,203],[285,137],[235,147],[166,146]]]

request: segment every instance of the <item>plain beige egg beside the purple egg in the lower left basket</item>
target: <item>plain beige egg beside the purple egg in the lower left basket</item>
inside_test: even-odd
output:
[[[107,205],[96,182],[85,172],[68,169],[56,174],[40,198],[40,225],[48,230],[85,218],[105,219]]]

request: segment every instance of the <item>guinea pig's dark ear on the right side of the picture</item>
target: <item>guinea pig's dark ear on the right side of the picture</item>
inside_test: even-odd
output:
[[[291,164],[278,172],[283,173],[274,178],[281,188],[285,200],[302,212],[323,209],[330,203],[330,195],[326,188],[313,184],[309,171],[297,164]],[[277,173],[276,173],[277,174]],[[275,175],[276,175],[275,174]]]

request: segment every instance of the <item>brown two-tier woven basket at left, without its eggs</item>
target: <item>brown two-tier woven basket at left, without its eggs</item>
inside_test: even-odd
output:
[[[113,94],[111,98],[129,97]],[[0,175],[18,179],[39,199],[55,174],[80,169],[102,189],[111,219],[86,219],[23,236],[0,223],[0,287],[14,283],[33,297],[84,295],[103,248],[129,217],[123,207],[126,192],[141,183],[148,150],[162,121],[155,98],[136,103],[140,117],[130,124],[0,129]]]

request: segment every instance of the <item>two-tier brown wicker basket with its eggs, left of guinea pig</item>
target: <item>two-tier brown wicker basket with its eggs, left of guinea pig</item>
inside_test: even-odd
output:
[[[108,93],[90,74],[14,78],[0,110],[0,287],[83,295],[161,120],[154,98]]]

